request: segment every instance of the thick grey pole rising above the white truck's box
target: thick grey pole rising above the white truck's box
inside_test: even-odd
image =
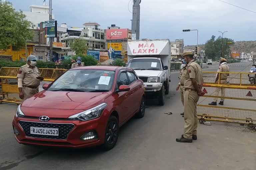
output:
[[[141,0],[133,0],[132,7],[132,40],[140,39],[140,2]]]

